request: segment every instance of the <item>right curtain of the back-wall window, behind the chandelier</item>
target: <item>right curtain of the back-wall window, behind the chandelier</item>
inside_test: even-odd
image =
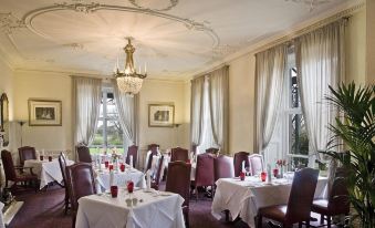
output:
[[[138,94],[129,96],[118,90],[116,80],[112,81],[115,103],[118,110],[119,125],[124,132],[126,143],[124,152],[127,152],[127,146],[137,145],[137,116],[138,116]]]

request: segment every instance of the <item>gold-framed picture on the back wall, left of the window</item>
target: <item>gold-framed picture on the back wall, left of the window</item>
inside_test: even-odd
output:
[[[61,126],[61,101],[29,100],[30,126]]]

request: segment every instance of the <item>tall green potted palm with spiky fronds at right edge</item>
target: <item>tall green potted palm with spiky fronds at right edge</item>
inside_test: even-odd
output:
[[[357,87],[354,83],[330,86],[326,100],[337,107],[341,116],[330,125],[334,137],[322,152],[338,160],[348,170],[347,187],[354,217],[361,227],[375,228],[375,85]],[[340,139],[347,153],[333,149]]]

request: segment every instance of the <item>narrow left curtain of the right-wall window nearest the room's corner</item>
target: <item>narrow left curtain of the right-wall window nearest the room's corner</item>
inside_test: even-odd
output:
[[[195,148],[200,145],[202,137],[204,87],[204,76],[191,80],[190,138]]]

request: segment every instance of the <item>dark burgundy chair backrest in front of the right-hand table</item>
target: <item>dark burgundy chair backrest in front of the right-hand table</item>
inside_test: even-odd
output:
[[[310,219],[317,176],[319,170],[313,168],[303,168],[294,173],[285,215],[289,224]]]

